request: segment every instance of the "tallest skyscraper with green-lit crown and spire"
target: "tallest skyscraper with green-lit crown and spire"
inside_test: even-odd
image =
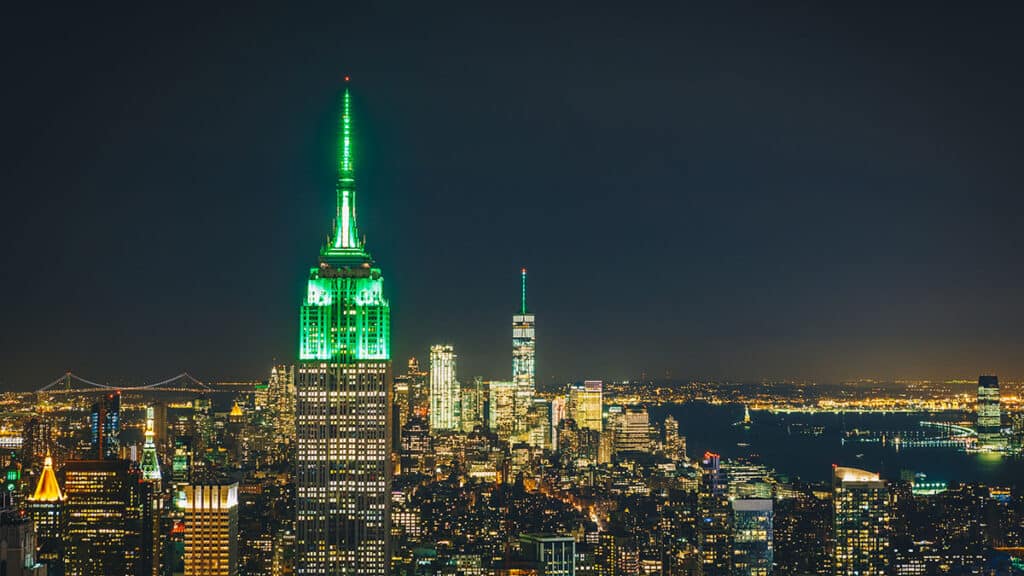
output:
[[[347,86],[340,129],[335,227],[299,323],[297,573],[372,576],[391,558],[391,319],[356,228]]]

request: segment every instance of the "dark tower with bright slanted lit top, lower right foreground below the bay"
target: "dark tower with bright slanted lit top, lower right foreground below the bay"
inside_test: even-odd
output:
[[[889,488],[876,472],[837,466],[833,474],[837,576],[885,574],[889,565]]]

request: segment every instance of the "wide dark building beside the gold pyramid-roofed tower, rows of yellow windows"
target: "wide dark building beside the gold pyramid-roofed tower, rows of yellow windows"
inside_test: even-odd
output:
[[[65,466],[65,574],[135,576],[142,564],[143,494],[129,460]]]

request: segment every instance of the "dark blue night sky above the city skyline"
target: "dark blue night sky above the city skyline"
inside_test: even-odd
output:
[[[1009,3],[258,4],[5,14],[0,389],[293,360],[346,74],[398,372],[1024,376]]]

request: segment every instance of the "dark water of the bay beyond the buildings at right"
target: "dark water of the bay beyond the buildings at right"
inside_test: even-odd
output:
[[[769,414],[752,412],[752,426],[734,426],[743,416],[739,405],[712,406],[703,403],[650,408],[651,421],[660,424],[667,414],[679,420],[690,457],[706,450],[723,457],[759,454],[776,472],[806,481],[827,482],[833,464],[855,466],[898,480],[901,470],[927,475],[927,480],[981,482],[989,485],[1024,486],[1024,458],[994,454],[968,454],[954,448],[904,448],[895,450],[874,444],[843,445],[844,429],[903,430],[918,428],[921,420],[957,421],[957,413],[920,414]],[[788,424],[795,424],[790,426]],[[824,426],[822,436],[796,434],[800,425]],[[793,434],[787,433],[787,428]],[[739,443],[749,447],[737,446]],[[858,454],[862,455],[858,457]]]

